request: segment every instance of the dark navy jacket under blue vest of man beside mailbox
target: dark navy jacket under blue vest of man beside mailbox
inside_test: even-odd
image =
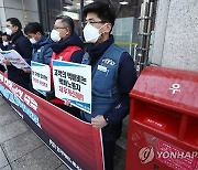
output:
[[[87,52],[89,54],[89,64],[92,71],[98,67],[98,61],[103,53],[114,43],[114,39],[111,35],[110,39],[94,46],[88,46]],[[129,93],[132,89],[136,81],[136,71],[134,68],[133,59],[128,52],[123,52],[120,56],[118,66],[118,88],[120,93],[120,99],[114,103],[105,114],[103,117],[108,125],[102,128],[103,140],[117,140],[121,135],[122,119],[129,114],[130,97]],[[114,78],[112,76],[112,78]],[[101,79],[102,81],[102,79]],[[103,83],[105,84],[105,83]],[[102,88],[102,87],[101,87]],[[96,115],[95,115],[96,116]],[[82,117],[85,119],[85,117]]]

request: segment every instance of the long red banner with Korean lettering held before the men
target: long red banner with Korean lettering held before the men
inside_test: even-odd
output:
[[[14,84],[1,72],[0,94],[68,167],[103,169],[101,132],[90,124]]]

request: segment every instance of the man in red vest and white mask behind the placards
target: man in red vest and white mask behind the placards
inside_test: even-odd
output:
[[[79,36],[74,31],[74,21],[70,17],[58,15],[54,23],[54,29],[51,32],[51,39],[56,42],[53,49],[52,60],[59,60],[66,62],[81,63],[84,55],[84,44]],[[52,64],[51,64],[52,65]],[[53,86],[53,84],[52,84]],[[75,107],[67,107],[64,102],[54,98],[51,99],[56,106],[67,110],[70,114],[78,116],[78,109]]]

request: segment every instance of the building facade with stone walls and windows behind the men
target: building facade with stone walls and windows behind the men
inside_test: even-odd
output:
[[[20,19],[22,26],[28,22],[41,22],[45,31],[53,29],[55,17],[70,15],[76,32],[82,39],[84,6],[94,0],[0,0],[0,30],[4,31],[6,20]],[[183,70],[198,71],[198,2],[197,0],[105,0],[117,11],[112,31],[118,45],[135,59],[139,43],[141,4],[155,2],[152,19],[152,35],[148,63]]]

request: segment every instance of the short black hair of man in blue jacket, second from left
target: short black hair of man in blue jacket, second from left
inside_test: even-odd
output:
[[[36,33],[40,32],[44,35],[43,26],[38,22],[29,22],[24,28],[24,33],[28,35],[29,33]]]

